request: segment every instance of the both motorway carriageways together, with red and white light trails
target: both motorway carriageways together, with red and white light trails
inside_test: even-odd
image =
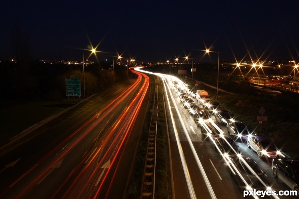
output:
[[[9,151],[1,148],[0,197],[125,198],[150,98],[148,76],[134,73],[138,78],[128,87],[97,95],[28,134],[26,142],[22,138]],[[180,103],[172,77],[155,75],[164,87],[172,198],[243,198],[223,154]],[[214,116],[211,123],[227,134],[226,126],[216,124]],[[266,173],[271,189],[289,190],[273,178],[271,159],[258,158],[246,143],[237,144],[242,155],[255,160]]]

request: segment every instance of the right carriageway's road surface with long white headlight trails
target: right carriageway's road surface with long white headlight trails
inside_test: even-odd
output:
[[[179,101],[173,89],[172,76],[154,73],[163,80],[164,98],[168,120],[169,148],[172,165],[173,198],[176,199],[239,199],[243,198],[243,190],[232,178],[224,156],[219,155],[209,137],[207,139],[200,127],[194,122],[188,110]],[[195,100],[196,101],[196,100]],[[199,104],[198,104],[199,105]],[[214,116],[211,123],[219,127],[226,135],[226,125],[217,124]],[[259,158],[255,152],[247,148],[246,141],[237,142],[240,153],[253,159],[266,173],[266,179],[272,190],[290,190],[285,184],[274,179],[271,170],[272,159]],[[265,190],[266,190],[265,186]],[[249,197],[252,198],[252,197]],[[253,198],[259,198],[257,196]],[[265,196],[263,198],[296,198],[291,196]]]

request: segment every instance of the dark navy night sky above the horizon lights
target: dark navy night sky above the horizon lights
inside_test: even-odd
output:
[[[298,0],[2,0],[0,7],[2,60],[15,58],[16,30],[40,60],[80,60],[90,44],[100,60],[201,59],[205,47],[221,60],[299,60]]]

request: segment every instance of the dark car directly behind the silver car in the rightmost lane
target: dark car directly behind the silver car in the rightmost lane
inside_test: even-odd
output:
[[[242,121],[231,119],[226,125],[227,132],[240,138],[248,137],[249,131]]]

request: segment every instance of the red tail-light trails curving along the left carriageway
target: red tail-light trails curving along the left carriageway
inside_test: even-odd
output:
[[[23,198],[34,189],[41,181],[43,181],[55,168],[55,165],[61,164],[62,160],[73,150],[78,147],[83,139],[94,133],[94,130],[101,122],[108,121],[105,124],[105,130],[101,130],[99,134],[103,134],[100,140],[99,136],[92,142],[95,145],[90,146],[90,150],[84,154],[81,162],[71,171],[64,182],[59,185],[53,197],[63,195],[64,198],[91,198],[96,197],[100,192],[102,185],[109,173],[115,173],[113,166],[118,164],[118,159],[122,155],[122,148],[127,143],[127,138],[131,133],[132,126],[136,121],[142,101],[149,87],[149,77],[143,73],[132,71],[138,75],[137,80],[126,89],[115,100],[111,101],[101,111],[97,112],[91,119],[73,132],[67,139],[61,142],[46,156],[40,159],[32,168],[25,172],[10,187],[14,188],[19,185],[25,178],[35,176],[26,186],[21,185],[21,191],[15,194],[15,198]],[[141,85],[141,86],[139,86]],[[138,93],[136,89],[140,87]],[[129,95],[134,94],[135,97],[127,105],[126,109],[111,125],[109,122],[113,112],[119,107]],[[110,118],[109,118],[110,117]],[[106,164],[107,163],[107,164]],[[107,168],[101,168],[103,165]],[[38,169],[37,169],[38,168]],[[39,171],[39,172],[38,172]],[[37,173],[37,174],[36,174]],[[70,183],[70,181],[72,181]],[[18,188],[16,188],[18,189]],[[62,193],[61,193],[62,192]]]

